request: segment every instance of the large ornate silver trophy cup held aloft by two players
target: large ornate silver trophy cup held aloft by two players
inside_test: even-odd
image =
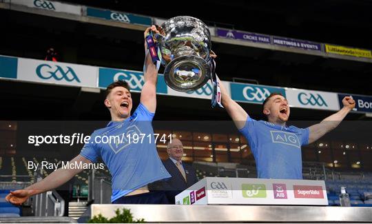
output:
[[[205,85],[211,77],[211,34],[207,25],[194,17],[174,17],[165,21],[159,31],[156,40],[167,85],[180,92]]]

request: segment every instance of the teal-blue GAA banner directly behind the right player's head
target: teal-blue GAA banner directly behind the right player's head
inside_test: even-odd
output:
[[[231,99],[240,102],[262,103],[267,96],[277,92],[285,96],[284,88],[269,87],[265,85],[250,85],[244,83],[230,83]]]

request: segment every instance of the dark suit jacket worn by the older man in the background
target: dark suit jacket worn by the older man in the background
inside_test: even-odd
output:
[[[198,178],[196,177],[196,172],[191,165],[182,163],[187,181],[185,181],[180,170],[178,170],[176,164],[174,164],[171,159],[163,161],[163,165],[172,177],[164,181],[156,181],[150,186],[152,190],[165,191],[169,203],[174,204],[174,196],[176,196],[180,192],[183,192],[183,190],[186,190],[191,185],[194,185],[194,183],[198,182]]]

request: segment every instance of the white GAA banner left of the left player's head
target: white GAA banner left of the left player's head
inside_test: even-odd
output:
[[[17,79],[96,88],[97,70],[88,65],[19,59]]]

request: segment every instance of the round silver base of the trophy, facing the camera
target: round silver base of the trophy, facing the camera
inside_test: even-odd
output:
[[[194,55],[172,60],[164,70],[165,83],[173,90],[189,92],[201,88],[211,77],[208,63]]]

